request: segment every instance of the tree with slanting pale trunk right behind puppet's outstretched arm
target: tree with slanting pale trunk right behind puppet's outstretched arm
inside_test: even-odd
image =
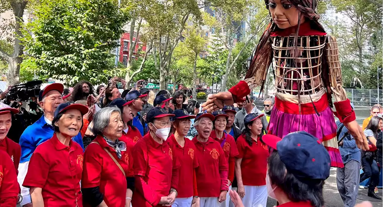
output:
[[[225,76],[221,87],[221,91],[226,91],[226,81],[232,68],[234,68],[250,41],[252,41],[254,37],[260,36],[269,17],[268,10],[266,10],[264,3],[259,0],[222,0],[216,3],[218,3],[218,6],[213,7],[215,11],[215,21],[213,21],[213,24],[210,26],[211,28],[216,28],[215,35],[224,40],[224,46],[229,52],[226,59]],[[255,15],[252,15],[254,13]],[[242,29],[244,23],[248,25],[247,31]],[[241,36],[239,37],[239,35]],[[237,41],[244,41],[245,44],[238,54],[232,57],[232,50],[236,39]]]

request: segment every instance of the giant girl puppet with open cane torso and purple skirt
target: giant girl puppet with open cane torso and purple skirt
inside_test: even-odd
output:
[[[367,139],[342,88],[337,42],[318,22],[318,0],[265,0],[272,20],[260,38],[244,81],[227,92],[210,95],[207,111],[239,102],[256,86],[264,86],[272,64],[275,105],[268,133],[284,137],[306,131],[327,148],[331,166],[343,167],[337,143],[334,115],[368,148]],[[332,98],[336,112],[332,111]],[[364,140],[364,141],[363,141]]]

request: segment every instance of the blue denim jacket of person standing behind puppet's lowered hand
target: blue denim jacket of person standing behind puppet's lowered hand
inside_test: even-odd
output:
[[[340,121],[336,121],[337,126],[337,132],[339,131],[340,127],[343,126]],[[338,140],[343,137],[344,133],[346,133],[348,129],[346,127],[342,128],[342,132],[340,132]],[[340,155],[342,156],[343,163],[346,164],[350,160],[355,160],[360,163],[360,150],[357,147],[357,144],[355,143],[354,137],[352,135],[347,135],[343,139],[343,145],[339,146]]]

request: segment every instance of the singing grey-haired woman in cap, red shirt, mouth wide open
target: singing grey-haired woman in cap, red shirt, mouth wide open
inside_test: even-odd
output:
[[[219,142],[210,137],[213,120],[212,114],[201,113],[194,122],[198,135],[192,141],[200,164],[196,177],[201,207],[219,207],[229,189],[228,161]]]

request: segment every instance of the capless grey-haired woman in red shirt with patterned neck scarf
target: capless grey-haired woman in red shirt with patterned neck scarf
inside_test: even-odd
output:
[[[117,107],[107,107],[93,117],[97,137],[84,153],[82,192],[84,206],[129,207],[133,194],[131,152],[122,136],[124,123]]]

